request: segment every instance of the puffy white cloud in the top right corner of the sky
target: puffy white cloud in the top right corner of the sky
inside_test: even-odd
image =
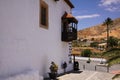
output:
[[[119,11],[120,0],[101,0],[99,6],[108,11]]]

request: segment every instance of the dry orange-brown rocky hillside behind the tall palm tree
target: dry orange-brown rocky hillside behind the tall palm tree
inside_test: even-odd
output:
[[[110,36],[120,39],[120,18],[113,20],[113,25],[110,27]],[[80,39],[102,39],[106,38],[106,26],[99,24],[83,30],[78,31],[78,38]]]

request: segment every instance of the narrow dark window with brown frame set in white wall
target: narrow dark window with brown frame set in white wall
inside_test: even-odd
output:
[[[48,29],[48,5],[40,0],[40,27]]]

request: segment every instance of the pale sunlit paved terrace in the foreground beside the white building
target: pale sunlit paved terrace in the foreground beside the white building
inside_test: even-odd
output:
[[[81,73],[69,73],[58,77],[59,80],[112,80],[115,74],[97,72],[97,71],[83,71]]]

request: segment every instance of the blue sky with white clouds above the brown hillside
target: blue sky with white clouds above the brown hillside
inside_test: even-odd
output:
[[[101,24],[107,17],[120,18],[120,0],[70,0],[72,14],[79,21],[78,30]]]

